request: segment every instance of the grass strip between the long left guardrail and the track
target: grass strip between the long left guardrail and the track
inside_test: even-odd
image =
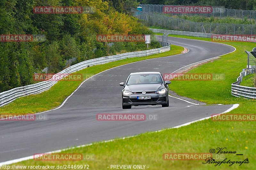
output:
[[[170,55],[180,54],[184,48],[180,46],[171,45],[171,50],[154,55],[148,55],[144,57],[134,57],[127,58],[124,60],[119,60],[115,62],[110,62],[106,64],[100,64],[96,66],[91,66],[86,69],[77,71],[75,74],[82,74],[83,80],[81,81],[59,81],[50,90],[42,92],[40,94],[28,95],[25,97],[18,98],[14,100],[9,105],[0,107],[0,115],[7,114],[19,114],[26,115],[29,113],[38,113],[52,108],[60,106],[60,104],[76,90],[76,88],[87,78],[100,73],[101,71],[108,70],[110,68],[133,63],[141,60],[147,60],[150,58],[164,57]]]

